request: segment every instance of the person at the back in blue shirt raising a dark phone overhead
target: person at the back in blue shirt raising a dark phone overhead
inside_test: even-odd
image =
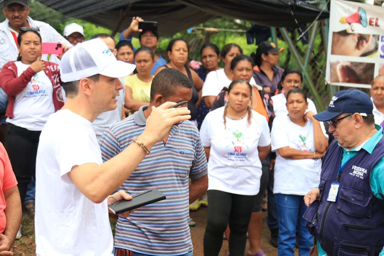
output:
[[[140,17],[132,17],[132,22],[125,30],[120,34],[121,40],[132,41],[132,35],[134,32],[139,32],[139,43],[141,46],[151,48],[155,53],[155,65],[152,67],[151,75],[156,71],[159,66],[166,65],[167,62],[161,55],[156,55],[156,47],[159,45],[159,34],[157,33],[157,22],[149,24],[147,28],[139,28],[139,23],[144,22]]]

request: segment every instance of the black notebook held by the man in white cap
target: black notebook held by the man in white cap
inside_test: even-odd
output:
[[[119,214],[164,199],[166,199],[165,194],[161,193],[161,191],[157,190],[156,188],[152,188],[151,190],[135,194],[132,196],[132,200],[122,199],[120,201],[108,204],[108,209],[111,210],[111,212],[114,214]]]

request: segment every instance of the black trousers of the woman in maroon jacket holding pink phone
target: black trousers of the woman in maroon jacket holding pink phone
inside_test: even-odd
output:
[[[31,177],[35,178],[40,133],[41,131],[30,131],[12,123],[7,124],[7,152],[18,182],[22,203]]]

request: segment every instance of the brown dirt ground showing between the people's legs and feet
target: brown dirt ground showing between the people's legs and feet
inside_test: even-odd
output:
[[[191,227],[192,243],[194,246],[194,256],[203,256],[203,238],[205,232],[205,226],[207,224],[207,208],[200,208],[198,211],[191,212],[190,217],[196,222],[196,226]],[[262,248],[269,256],[277,256],[277,249],[271,246],[270,231],[266,225],[266,212],[263,212],[263,227],[262,227]],[[32,256],[35,254],[35,234],[34,234],[34,223],[33,219],[26,213],[23,214],[23,231],[22,238],[17,240],[12,248],[14,256]],[[247,256],[247,249],[249,243],[247,241],[247,247],[245,256]],[[223,241],[223,246],[219,256],[227,256],[228,253],[228,242]],[[295,255],[298,256],[296,249]]]

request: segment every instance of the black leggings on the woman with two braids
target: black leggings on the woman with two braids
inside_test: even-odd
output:
[[[255,196],[208,190],[208,220],[204,234],[204,255],[217,256],[223,244],[223,233],[229,223],[229,254],[243,256],[248,224]]]

